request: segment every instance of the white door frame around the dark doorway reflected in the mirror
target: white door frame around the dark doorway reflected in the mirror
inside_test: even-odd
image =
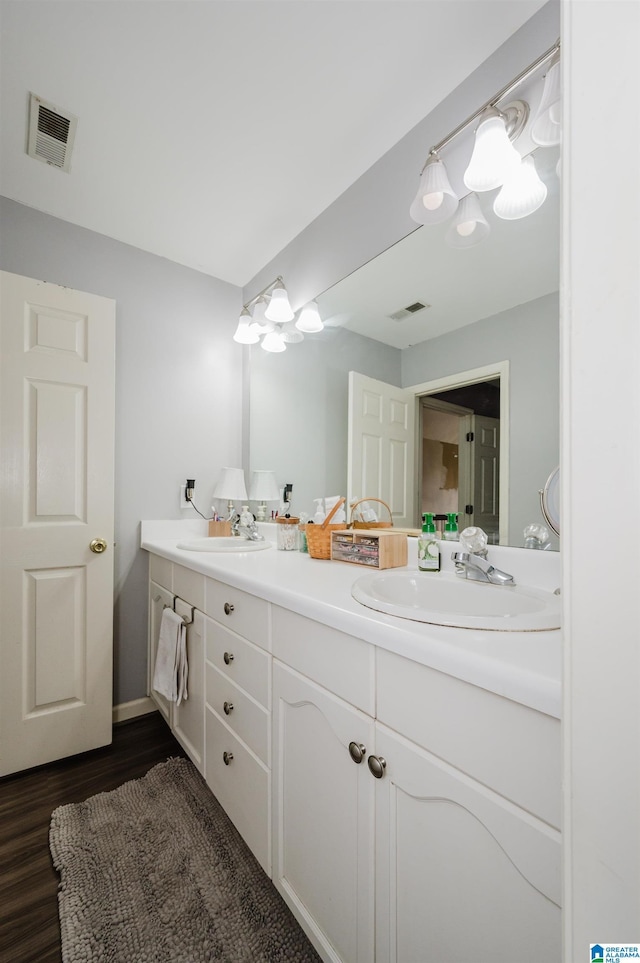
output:
[[[500,379],[500,544],[509,544],[509,362],[496,361],[493,364],[484,365],[480,368],[470,368],[466,371],[459,371],[455,374],[447,375],[444,378],[436,378],[433,381],[425,381],[422,384],[410,385],[406,390],[413,392],[416,401],[416,439],[415,451],[421,451],[422,439],[421,419],[419,408],[421,398],[427,395],[438,394],[441,391],[449,391],[452,388],[462,388],[465,385],[477,384],[481,381],[491,381],[494,378]],[[416,472],[416,479],[418,472]],[[419,505],[419,493],[416,498]]]

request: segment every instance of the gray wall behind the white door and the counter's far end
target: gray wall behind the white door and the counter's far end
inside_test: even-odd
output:
[[[146,691],[143,518],[180,510],[187,475],[211,505],[224,465],[241,464],[240,289],[0,198],[0,268],[116,301],[114,704]]]

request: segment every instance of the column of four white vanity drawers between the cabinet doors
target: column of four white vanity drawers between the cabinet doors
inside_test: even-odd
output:
[[[271,874],[269,605],[206,580],[205,778]]]

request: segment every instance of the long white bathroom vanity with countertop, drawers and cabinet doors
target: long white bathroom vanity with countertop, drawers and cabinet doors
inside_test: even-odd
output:
[[[559,961],[561,633],[398,619],[357,565],[185,551],[185,524],[142,526],[151,674],[162,605],[193,606],[189,699],[151,695],[321,957]],[[558,584],[557,556],[500,564]]]

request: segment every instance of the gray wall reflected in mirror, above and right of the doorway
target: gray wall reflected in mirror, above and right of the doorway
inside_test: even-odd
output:
[[[402,352],[405,388],[509,361],[510,545],[543,521],[538,491],[559,461],[559,310],[549,294]]]

